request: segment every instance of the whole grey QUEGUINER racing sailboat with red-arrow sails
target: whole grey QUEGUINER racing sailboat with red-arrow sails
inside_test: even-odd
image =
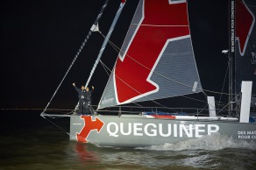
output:
[[[122,1],[117,18],[124,4]],[[230,59],[229,110],[217,110],[214,96],[207,96],[207,110],[174,109],[165,105],[142,107],[138,104],[146,101],[160,104],[155,101],[203,93],[205,90],[193,52],[188,2],[140,0],[93,114],[53,115],[44,110],[41,116],[70,117],[70,140],[95,145],[163,145],[215,134],[235,140],[256,141],[256,124],[251,110],[255,104],[252,96],[256,92],[252,88],[256,83],[255,6],[255,2],[250,0],[230,1],[230,46],[223,52],[228,53]],[[117,18],[112,25],[117,23]],[[98,29],[97,23],[91,27],[91,32]],[[107,42],[103,43],[102,49]],[[96,64],[98,62],[99,58]],[[89,79],[95,69],[93,67]],[[88,84],[89,81],[86,86]],[[129,103],[138,105],[127,106]],[[237,103],[236,107],[233,103]]]

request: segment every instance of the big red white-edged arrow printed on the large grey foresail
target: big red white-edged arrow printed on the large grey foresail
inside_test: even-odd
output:
[[[117,101],[124,103],[157,89],[149,75],[167,39],[189,35],[187,4],[145,0],[144,18],[124,57],[117,59]]]

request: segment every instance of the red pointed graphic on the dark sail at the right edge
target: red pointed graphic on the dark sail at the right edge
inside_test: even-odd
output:
[[[243,56],[247,41],[250,37],[250,33],[252,32],[251,29],[254,24],[254,18],[252,13],[242,2],[238,2],[236,4],[236,14],[236,37],[239,39],[239,49],[241,55]]]

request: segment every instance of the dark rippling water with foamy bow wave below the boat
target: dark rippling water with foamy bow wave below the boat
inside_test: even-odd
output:
[[[256,169],[254,143],[236,143],[221,136],[146,148],[100,147],[69,141],[68,134],[39,113],[4,119],[0,125],[1,170]],[[68,120],[51,121],[68,131]]]

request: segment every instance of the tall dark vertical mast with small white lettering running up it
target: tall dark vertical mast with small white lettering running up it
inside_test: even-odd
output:
[[[233,69],[235,58],[235,2],[231,0],[229,2],[229,116],[232,112],[232,98],[233,98]]]

